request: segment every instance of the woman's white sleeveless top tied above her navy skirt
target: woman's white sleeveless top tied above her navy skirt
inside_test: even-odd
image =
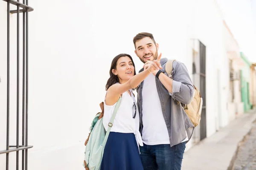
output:
[[[131,92],[131,90],[130,90]],[[133,118],[135,113],[136,106],[136,117]],[[103,116],[103,125],[105,130],[108,130],[108,123],[113,114],[116,103],[112,106],[106,105],[104,102],[104,116]],[[143,146],[142,138],[139,131],[140,127],[140,116],[138,111],[137,102],[134,98],[134,95],[130,94],[126,91],[122,94],[121,103],[119,105],[119,109],[116,113],[116,117],[113,122],[113,126],[111,127],[111,132],[119,132],[119,133],[134,133],[137,145]]]

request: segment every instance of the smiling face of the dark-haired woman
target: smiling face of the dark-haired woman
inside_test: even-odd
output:
[[[134,76],[134,65],[129,57],[120,57],[116,62],[116,69],[112,72],[118,76],[120,83],[125,83]]]

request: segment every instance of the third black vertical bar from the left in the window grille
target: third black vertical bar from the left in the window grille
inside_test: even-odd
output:
[[[25,4],[25,0],[23,0],[23,4]],[[26,32],[25,32],[25,29],[26,29],[26,13],[25,11],[23,11],[23,65],[22,65],[22,69],[23,69],[23,73],[22,73],[22,145],[25,145],[25,47],[26,47],[26,44],[25,44],[25,38],[26,38]],[[24,159],[25,157],[25,152],[24,150],[22,150],[22,170],[24,170]]]

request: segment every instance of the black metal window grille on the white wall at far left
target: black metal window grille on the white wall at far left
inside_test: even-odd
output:
[[[16,170],[19,169],[19,151],[22,150],[22,170],[27,170],[28,165],[28,149],[33,147],[28,145],[28,18],[29,11],[33,8],[28,6],[28,0],[4,0],[7,2],[7,120],[6,120],[6,150],[1,150],[0,154],[6,154],[6,170],[9,170],[9,154],[16,152]],[[10,5],[17,6],[17,10],[10,11]],[[16,130],[16,144],[9,144],[9,125],[10,125],[10,14],[17,14],[17,130]],[[20,129],[20,13],[23,13],[23,55],[22,55],[22,144],[19,143],[19,129]],[[3,24],[3,23],[0,23]]]

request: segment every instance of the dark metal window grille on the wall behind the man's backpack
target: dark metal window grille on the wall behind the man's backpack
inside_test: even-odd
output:
[[[203,108],[200,121],[200,140],[206,138],[206,47],[202,42],[199,42],[199,57],[200,57],[200,93],[203,98]]]

